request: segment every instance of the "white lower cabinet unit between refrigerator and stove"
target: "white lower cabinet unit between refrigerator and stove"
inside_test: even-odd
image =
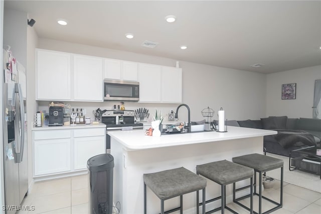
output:
[[[33,131],[34,177],[87,169],[87,160],[106,153],[105,128]]]

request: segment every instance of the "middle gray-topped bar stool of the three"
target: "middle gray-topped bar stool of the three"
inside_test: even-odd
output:
[[[207,211],[206,213],[216,212],[221,209],[221,213],[223,214],[225,208],[230,210],[233,213],[237,213],[236,211],[234,211],[233,209],[231,209],[226,205],[226,185],[233,183],[233,186],[234,186],[235,182],[240,180],[245,180],[248,178],[250,178],[250,183],[252,184],[254,171],[249,167],[236,164],[227,160],[222,160],[222,161],[206,163],[203,165],[198,165],[196,166],[196,173],[221,185],[221,196],[207,200],[205,203],[209,203],[209,202],[213,202],[215,200],[221,199],[220,207]],[[253,185],[250,185],[250,186],[251,186],[250,195],[253,195]],[[235,191],[233,191],[233,198],[235,197],[234,194],[235,194]],[[253,213],[252,199],[253,198],[251,196],[251,201],[250,201],[251,214]],[[200,203],[200,205],[201,204],[202,203]],[[202,205],[204,205],[204,200]]]

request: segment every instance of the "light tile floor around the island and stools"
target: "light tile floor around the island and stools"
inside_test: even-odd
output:
[[[292,184],[283,183],[283,207],[274,211],[278,214],[320,214],[321,193],[314,192]],[[265,189],[263,194],[279,200],[280,182],[276,181],[272,188]],[[249,203],[244,199],[244,204]],[[254,198],[254,210],[257,211],[257,198]],[[88,213],[88,175],[36,182],[24,199],[23,205],[34,205],[35,210],[19,211],[19,214],[83,214]],[[228,204],[239,213],[248,211],[237,204]],[[263,201],[263,211],[271,208],[271,203]],[[220,211],[215,213],[221,213]],[[225,213],[231,213],[225,209]],[[129,213],[126,213],[129,214]]]

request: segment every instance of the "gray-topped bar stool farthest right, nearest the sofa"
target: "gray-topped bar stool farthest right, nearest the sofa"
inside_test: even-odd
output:
[[[261,155],[261,154],[256,154],[256,153],[249,154],[249,155],[243,155],[243,156],[239,156],[239,157],[234,157],[234,158],[232,158],[232,160],[234,163],[242,164],[244,166],[248,166],[248,167],[251,167],[254,169],[254,172],[255,172],[254,173],[254,194],[259,196],[259,212],[254,211],[254,213],[262,214],[262,198],[276,204],[276,206],[274,208],[263,212],[264,214],[270,213],[270,212],[282,207],[282,204],[283,204],[283,160],[269,157],[269,156],[265,156],[265,155]],[[280,202],[279,203],[262,195],[262,174],[264,172],[267,172],[267,171],[270,171],[273,169],[277,169],[277,168],[281,168],[281,187],[280,187]],[[256,192],[256,173],[257,172],[259,173],[259,193]],[[233,190],[239,191],[241,189],[248,188],[248,187],[249,186],[245,186],[245,187],[242,187],[239,189],[235,189],[235,187],[234,187]],[[233,198],[233,200],[234,200],[234,202],[243,206],[244,208],[249,209],[248,207],[246,207],[245,205],[243,205],[239,202],[239,200],[242,200],[246,197],[248,197],[248,195],[245,195],[240,198]]]

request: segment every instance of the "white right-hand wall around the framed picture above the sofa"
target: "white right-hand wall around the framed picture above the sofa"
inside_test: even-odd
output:
[[[321,79],[321,66],[267,75],[267,116],[312,118],[314,80]],[[281,99],[282,84],[296,83],[296,99]]]

